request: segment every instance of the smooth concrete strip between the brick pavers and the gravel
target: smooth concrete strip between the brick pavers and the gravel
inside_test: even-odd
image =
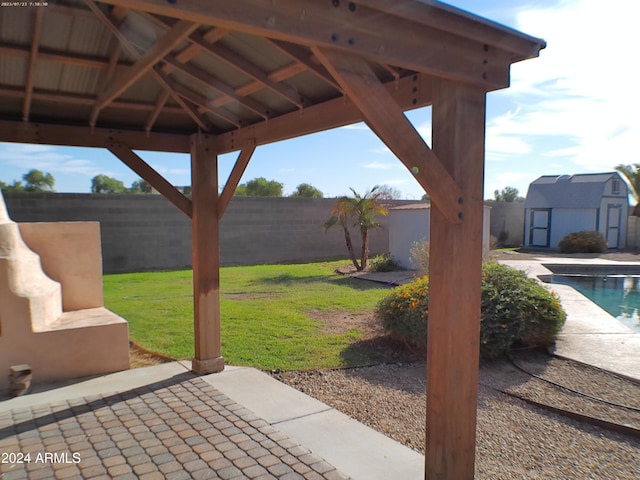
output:
[[[420,478],[424,456],[253,368],[203,377],[353,479]]]

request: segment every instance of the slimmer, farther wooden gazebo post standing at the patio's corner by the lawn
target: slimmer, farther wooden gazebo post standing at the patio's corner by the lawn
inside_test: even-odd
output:
[[[214,139],[191,137],[191,220],[193,257],[194,373],[224,369],[220,340],[220,245],[218,157]]]

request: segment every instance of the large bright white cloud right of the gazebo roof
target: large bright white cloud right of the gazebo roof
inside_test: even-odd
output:
[[[499,95],[520,107],[488,124],[487,158],[528,154],[535,142],[538,155],[563,159],[569,169],[637,162],[638,14],[640,3],[621,0],[520,11],[516,28],[548,46],[539,59],[512,67],[512,86]]]

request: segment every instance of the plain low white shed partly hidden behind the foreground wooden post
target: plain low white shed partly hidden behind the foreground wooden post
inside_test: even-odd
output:
[[[489,252],[489,225],[491,207],[484,206],[482,218],[482,252]],[[423,239],[429,241],[431,205],[411,203],[389,209],[389,253],[402,268],[414,270],[411,250]]]

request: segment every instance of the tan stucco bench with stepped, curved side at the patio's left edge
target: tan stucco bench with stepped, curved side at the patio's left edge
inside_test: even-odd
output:
[[[129,368],[127,322],[103,306],[97,222],[11,221],[0,193],[0,392]]]

